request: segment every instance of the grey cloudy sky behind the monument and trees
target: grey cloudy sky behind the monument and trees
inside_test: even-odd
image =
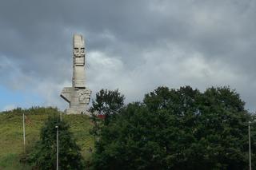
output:
[[[141,101],[159,85],[230,85],[256,110],[256,1],[2,0],[0,110],[53,105],[71,85],[72,36],[86,85]]]

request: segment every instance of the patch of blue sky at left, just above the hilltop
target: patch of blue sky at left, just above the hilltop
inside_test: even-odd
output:
[[[42,98],[32,92],[8,89],[0,85],[0,111],[17,107],[30,108],[42,103]]]

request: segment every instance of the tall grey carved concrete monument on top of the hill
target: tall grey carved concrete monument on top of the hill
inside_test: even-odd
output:
[[[64,87],[61,93],[61,97],[70,104],[70,108],[66,109],[67,114],[87,113],[91,91],[86,88],[85,66],[85,41],[82,35],[74,34],[72,87]]]

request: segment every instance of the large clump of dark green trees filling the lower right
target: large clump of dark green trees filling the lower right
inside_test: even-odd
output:
[[[244,105],[229,87],[158,87],[104,125],[94,169],[246,169]]]

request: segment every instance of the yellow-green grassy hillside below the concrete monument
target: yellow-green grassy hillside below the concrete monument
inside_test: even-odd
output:
[[[23,153],[22,113],[26,114],[26,145],[30,148],[39,139],[40,128],[47,117],[57,113],[54,108],[14,109],[0,113],[0,170],[30,169],[29,165],[19,162]],[[92,127],[86,115],[65,115],[62,119],[70,125],[70,131],[82,148],[82,156],[90,157],[89,148],[94,147],[94,137],[89,131]]]

